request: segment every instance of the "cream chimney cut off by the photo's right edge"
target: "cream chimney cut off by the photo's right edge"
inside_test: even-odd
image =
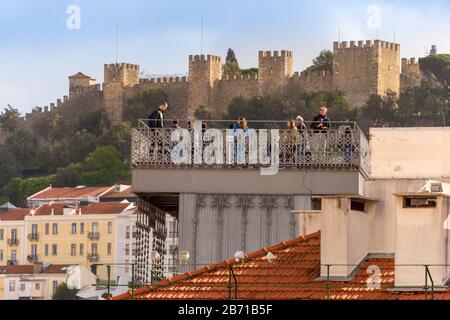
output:
[[[395,194],[395,286],[423,290],[428,284],[443,286],[449,279],[450,194],[447,183],[428,181],[416,193]],[[412,288],[412,289],[411,289]]]

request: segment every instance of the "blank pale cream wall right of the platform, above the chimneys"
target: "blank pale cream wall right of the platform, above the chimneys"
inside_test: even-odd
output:
[[[372,178],[450,177],[450,128],[370,129]]]

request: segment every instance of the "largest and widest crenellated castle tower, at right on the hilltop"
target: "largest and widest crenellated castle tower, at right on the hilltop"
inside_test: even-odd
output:
[[[351,107],[363,106],[371,94],[400,91],[400,45],[385,41],[335,42],[333,86]]]

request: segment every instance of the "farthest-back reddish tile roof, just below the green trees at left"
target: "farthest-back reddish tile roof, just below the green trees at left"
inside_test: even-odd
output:
[[[111,187],[86,187],[86,188],[48,188],[28,200],[39,199],[86,199],[88,196],[98,197]]]

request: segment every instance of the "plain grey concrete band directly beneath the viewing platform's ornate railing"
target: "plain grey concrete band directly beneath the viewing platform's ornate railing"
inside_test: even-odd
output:
[[[136,194],[362,194],[357,171],[282,170],[262,176],[258,169],[133,169]],[[298,208],[296,208],[298,209]]]

